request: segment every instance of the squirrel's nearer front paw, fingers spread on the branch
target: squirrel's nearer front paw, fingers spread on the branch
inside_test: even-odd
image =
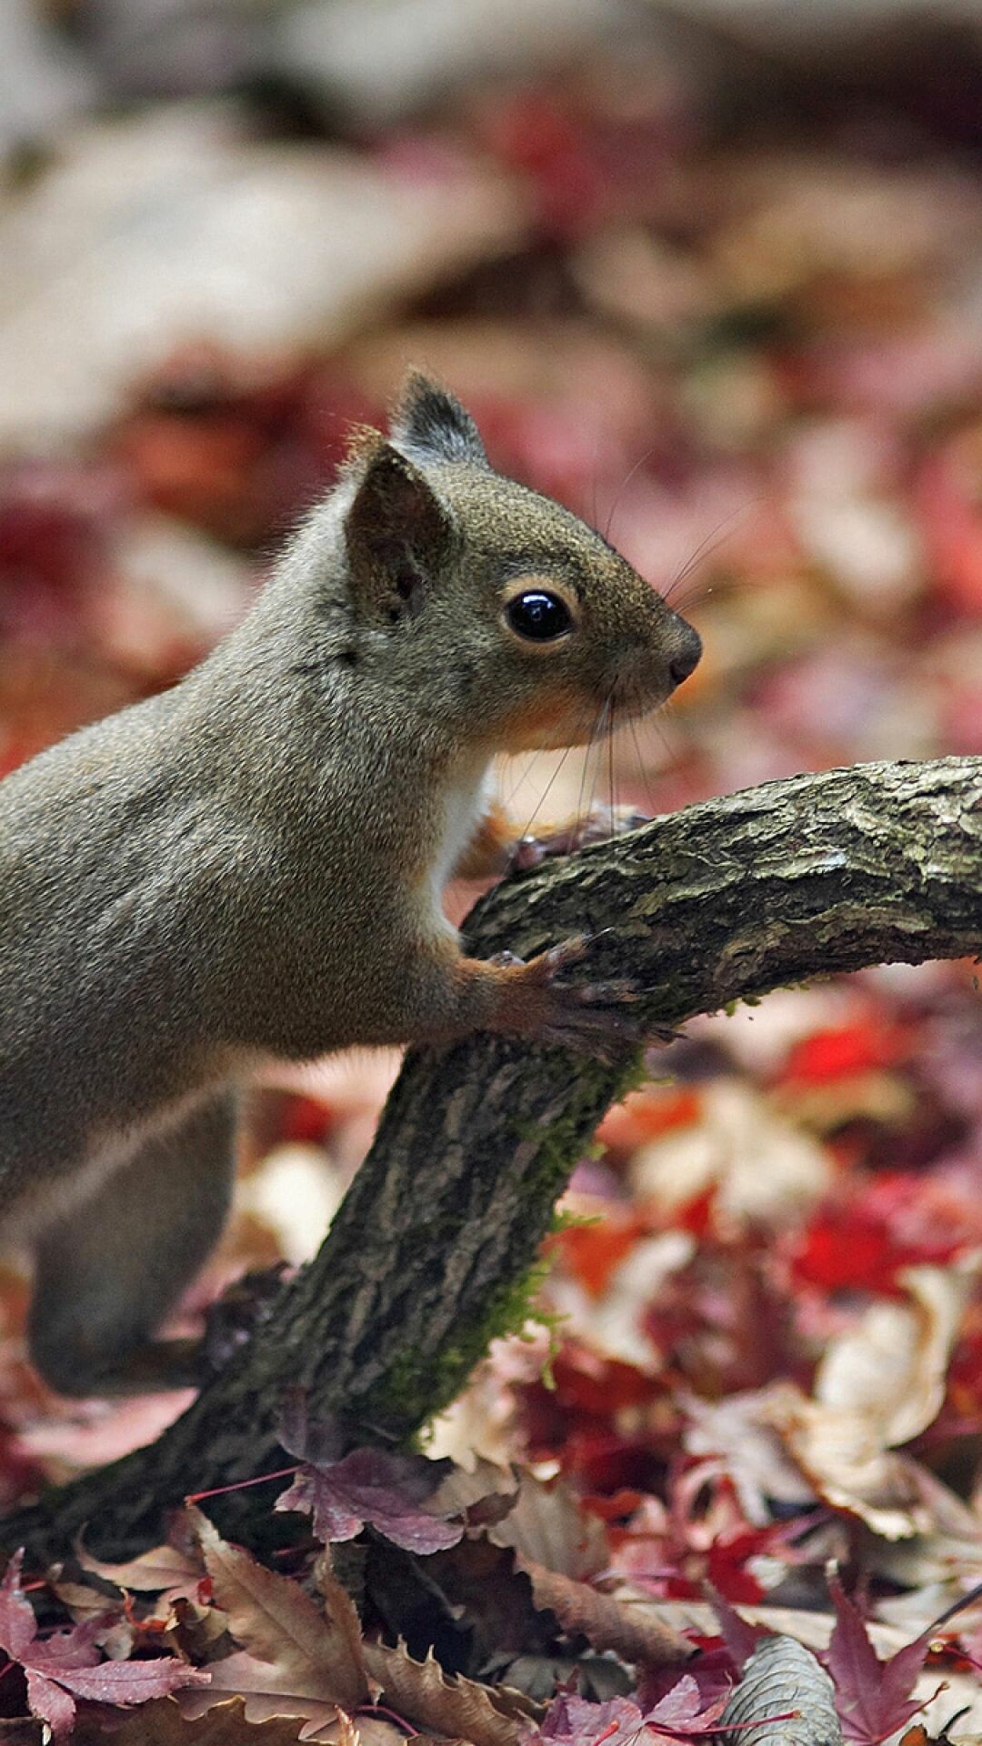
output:
[[[584,962],[594,939],[577,934],[528,964],[510,952],[501,953],[496,962],[507,971],[507,980],[494,1028],[557,1048],[587,1049],[610,1063],[624,1060],[652,1037],[671,1041],[674,1032],[645,1025],[631,1011],[641,990],[629,976],[584,983],[557,980],[563,971]]]

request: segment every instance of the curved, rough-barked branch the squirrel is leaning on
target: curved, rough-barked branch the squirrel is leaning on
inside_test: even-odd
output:
[[[979,953],[982,760],[860,765],[690,807],[482,899],[479,955],[601,932],[589,969],[636,978],[678,1025],[741,997],[886,960]],[[633,1063],[633,1072],[636,1063]],[[7,1547],[124,1556],[189,1491],[281,1465],[283,1388],[311,1416],[405,1437],[460,1390],[521,1289],[626,1069],[474,1037],[414,1051],[318,1257],[269,1323],[150,1449],[3,1524]]]

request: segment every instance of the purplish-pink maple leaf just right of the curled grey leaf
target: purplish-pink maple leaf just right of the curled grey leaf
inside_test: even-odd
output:
[[[881,1660],[858,1608],[835,1577],[828,1587],[835,1606],[828,1671],[842,1732],[856,1746],[877,1746],[923,1708],[910,1692],[931,1646],[931,1633],[907,1643],[889,1660]]]

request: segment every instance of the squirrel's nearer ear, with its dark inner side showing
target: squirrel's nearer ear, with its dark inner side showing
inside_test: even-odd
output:
[[[386,623],[418,611],[451,534],[419,468],[391,443],[372,443],[344,517],[351,592],[363,609]]]

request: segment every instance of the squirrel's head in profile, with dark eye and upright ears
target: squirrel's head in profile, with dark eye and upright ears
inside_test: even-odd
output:
[[[356,660],[461,740],[582,744],[699,660],[695,630],[585,522],[494,473],[425,377],[356,449],[342,527]]]

